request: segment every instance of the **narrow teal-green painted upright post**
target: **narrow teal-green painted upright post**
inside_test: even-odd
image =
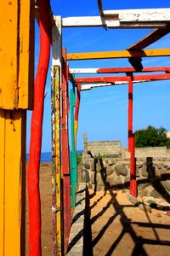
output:
[[[74,107],[75,92],[70,90],[71,98],[71,206],[76,206],[75,189],[77,187],[77,152],[75,150],[75,127],[74,127]]]

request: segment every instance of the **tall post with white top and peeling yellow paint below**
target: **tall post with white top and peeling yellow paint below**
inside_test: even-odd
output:
[[[55,16],[52,29],[52,218],[53,218],[53,255],[60,256],[61,235],[61,187],[60,187],[60,83],[61,83],[61,17]]]

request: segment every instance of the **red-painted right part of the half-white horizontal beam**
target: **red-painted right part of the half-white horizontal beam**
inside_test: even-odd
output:
[[[140,72],[170,72],[170,67],[144,67]],[[133,67],[108,67],[99,68],[97,73],[139,73],[139,71]]]

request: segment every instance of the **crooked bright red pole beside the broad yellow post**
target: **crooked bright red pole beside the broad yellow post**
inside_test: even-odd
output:
[[[48,0],[39,0],[40,54],[34,88],[34,109],[31,116],[31,143],[28,163],[29,255],[41,256],[41,201],[39,166],[42,147],[44,90],[50,56],[50,11]]]

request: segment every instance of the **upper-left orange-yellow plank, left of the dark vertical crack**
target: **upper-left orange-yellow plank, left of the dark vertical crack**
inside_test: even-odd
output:
[[[18,2],[0,1],[0,108],[6,109],[14,108],[17,90]]]

